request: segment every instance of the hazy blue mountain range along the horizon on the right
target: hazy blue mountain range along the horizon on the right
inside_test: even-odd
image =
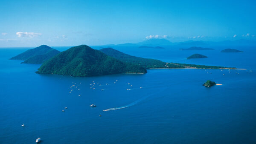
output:
[[[219,42],[213,42],[213,41],[193,41],[188,40],[184,42],[178,42],[178,43],[172,43],[169,40],[166,39],[149,39],[145,40],[139,43],[123,43],[123,44],[111,44],[111,45],[104,45],[106,46],[256,46],[255,40],[225,40],[225,41],[219,41]]]

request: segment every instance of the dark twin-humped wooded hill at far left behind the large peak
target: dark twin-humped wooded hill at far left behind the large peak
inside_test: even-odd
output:
[[[11,60],[24,60],[23,63],[41,64],[46,60],[49,60],[53,56],[60,53],[56,49],[52,49],[47,45],[41,45],[34,49],[29,49],[15,57],[10,58]]]

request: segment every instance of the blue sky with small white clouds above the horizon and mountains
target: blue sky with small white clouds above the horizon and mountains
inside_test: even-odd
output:
[[[0,47],[256,40],[255,0],[0,0]]]

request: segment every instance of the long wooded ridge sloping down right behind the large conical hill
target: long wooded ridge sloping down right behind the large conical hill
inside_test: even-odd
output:
[[[105,53],[108,56],[121,60],[123,62],[138,64],[140,66],[143,66],[146,69],[166,67],[166,63],[161,60],[135,57],[135,56],[131,56],[131,55],[127,55],[125,53],[119,52],[118,50],[115,50],[112,48],[104,48],[104,49],[100,49],[99,51]]]

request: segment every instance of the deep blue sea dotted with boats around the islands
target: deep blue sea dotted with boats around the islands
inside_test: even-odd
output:
[[[221,53],[223,47],[116,49],[166,62],[246,70],[152,69],[143,75],[88,78],[38,75],[40,65],[9,60],[26,48],[2,48],[0,143],[33,144],[38,137],[42,144],[256,143],[255,47],[237,48],[242,53]],[[194,53],[209,58],[186,60]],[[202,84],[207,80],[223,85],[206,88]],[[111,108],[116,110],[102,111]]]

